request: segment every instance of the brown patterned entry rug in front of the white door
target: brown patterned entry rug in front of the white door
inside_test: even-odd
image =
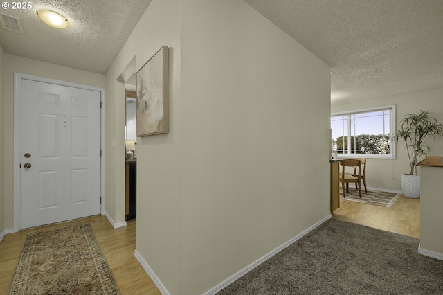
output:
[[[30,233],[10,294],[121,294],[89,223]]]

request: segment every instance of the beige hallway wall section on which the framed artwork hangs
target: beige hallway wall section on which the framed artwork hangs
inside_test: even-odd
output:
[[[107,206],[113,199],[113,218],[120,222],[125,208],[125,96],[118,78],[134,57],[137,71],[161,46],[170,48],[170,133],[137,138],[137,251],[170,294],[180,289],[180,6],[179,0],[153,0],[106,74],[107,167],[115,170],[107,174]],[[114,139],[116,148],[111,149]]]

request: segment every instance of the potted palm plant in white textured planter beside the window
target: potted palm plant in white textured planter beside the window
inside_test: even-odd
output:
[[[405,197],[420,197],[420,176],[417,175],[417,163],[431,154],[431,146],[426,139],[437,140],[443,136],[443,125],[428,116],[429,111],[408,114],[400,121],[400,129],[395,133],[396,141],[403,139],[408,152],[410,172],[401,174],[401,190]]]

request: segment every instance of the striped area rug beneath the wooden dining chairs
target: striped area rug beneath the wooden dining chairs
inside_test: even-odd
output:
[[[356,190],[355,186],[349,186],[349,193],[345,195],[346,201],[353,201],[359,203],[365,203],[375,206],[382,206],[390,208],[394,202],[400,197],[397,193],[381,192],[379,190],[361,190],[361,199],[359,196],[359,190]],[[340,188],[340,199],[343,199],[343,190]]]

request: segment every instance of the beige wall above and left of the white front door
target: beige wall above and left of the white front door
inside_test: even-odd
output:
[[[17,55],[6,53],[4,55],[4,167],[5,173],[5,228],[12,229],[14,226],[14,169],[11,155],[14,152],[14,73],[37,75],[44,78],[64,80],[95,87],[105,87],[105,75],[80,71],[78,69],[49,64],[38,60],[31,60]],[[19,148],[19,147],[17,147]]]

